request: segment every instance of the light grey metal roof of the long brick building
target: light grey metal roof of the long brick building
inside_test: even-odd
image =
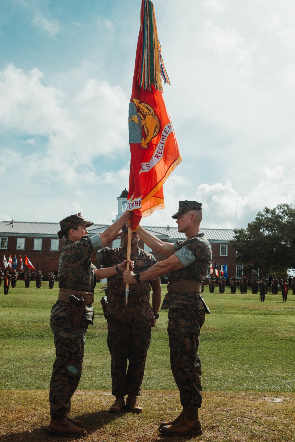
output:
[[[109,224],[93,224],[88,228],[92,235],[102,233]],[[186,236],[180,233],[177,227],[144,226],[144,228],[162,239],[184,240]],[[60,230],[59,223],[50,222],[22,222],[22,221],[0,221],[0,234],[8,235],[57,235]],[[209,241],[229,241],[234,237],[234,230],[231,229],[200,229]]]

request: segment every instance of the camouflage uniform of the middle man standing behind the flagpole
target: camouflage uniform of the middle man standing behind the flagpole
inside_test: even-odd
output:
[[[127,252],[121,248],[103,248],[96,253],[96,262],[104,267],[113,267],[127,259]],[[131,253],[134,273],[143,272],[157,263],[150,253],[138,248]],[[132,284],[129,287],[129,301],[125,304],[123,273],[107,278],[109,299],[112,295],[122,297],[122,301],[110,301],[107,308],[107,345],[111,354],[111,392],[113,396],[140,394],[146,365],[146,355],[151,336],[151,320],[154,317],[151,305],[149,281]],[[142,302],[130,302],[134,296],[147,297]],[[127,360],[129,360],[128,369]]]

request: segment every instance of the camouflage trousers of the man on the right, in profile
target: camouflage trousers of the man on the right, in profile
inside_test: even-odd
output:
[[[168,335],[171,370],[184,408],[195,410],[202,404],[199,333],[205,313],[188,309],[169,309]]]

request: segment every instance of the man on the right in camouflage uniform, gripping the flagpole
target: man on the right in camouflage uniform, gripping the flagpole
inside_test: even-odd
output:
[[[125,282],[131,284],[135,280],[144,281],[170,272],[168,293],[162,309],[169,309],[170,363],[183,406],[182,413],[176,419],[163,422],[159,427],[162,434],[170,436],[202,434],[198,419],[198,408],[202,404],[198,347],[199,332],[206,312],[210,311],[200,292],[201,282],[211,263],[212,252],[208,240],[199,231],[201,210],[198,202],[179,202],[179,210],[172,218],[177,220],[178,231],[187,236],[186,240],[179,243],[164,243],[140,227],[137,232],[142,240],[153,250],[169,258],[143,274],[124,273]]]

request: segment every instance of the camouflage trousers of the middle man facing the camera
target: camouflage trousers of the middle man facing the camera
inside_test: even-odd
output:
[[[127,324],[113,316],[107,316],[107,345],[111,353],[113,396],[140,394],[150,334],[150,320]],[[127,359],[129,365],[126,372]]]

